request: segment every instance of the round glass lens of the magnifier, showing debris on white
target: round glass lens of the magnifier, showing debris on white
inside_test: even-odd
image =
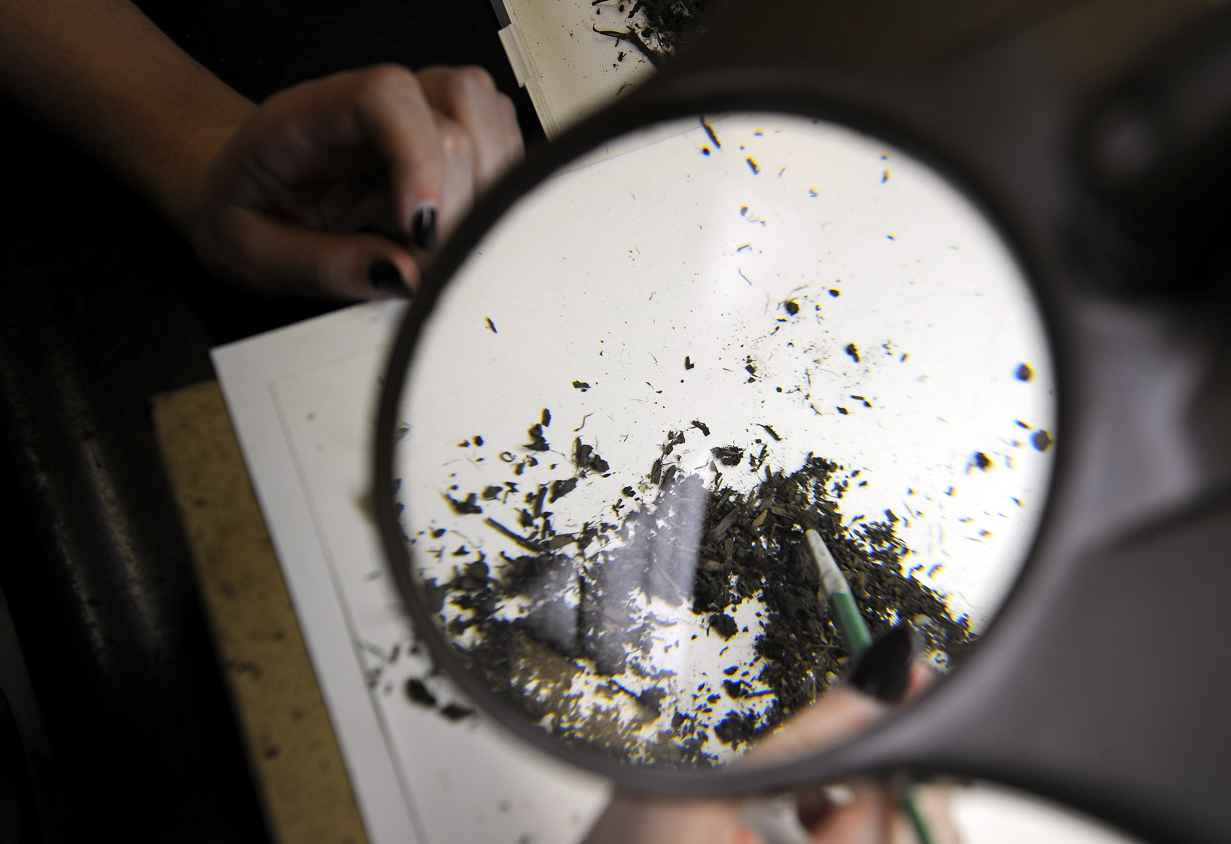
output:
[[[809,530],[868,635],[960,659],[1054,413],[1030,288],[934,170],[788,114],[640,129],[522,197],[420,330],[394,465],[420,632],[560,742],[723,765],[858,650]]]

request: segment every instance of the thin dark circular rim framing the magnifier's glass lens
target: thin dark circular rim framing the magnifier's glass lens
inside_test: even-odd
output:
[[[862,105],[856,100],[862,101]],[[766,768],[725,766],[697,770],[633,765],[618,763],[597,752],[553,738],[545,731],[532,725],[521,712],[501,700],[478,677],[463,667],[453,646],[438,631],[432,614],[414,583],[410,554],[395,508],[393,471],[396,447],[394,426],[398,421],[410,362],[422,328],[435,311],[442,290],[487,231],[518,199],[533,191],[544,178],[606,140],[668,119],[741,111],[774,112],[824,119],[879,138],[915,156],[945,177],[997,230],[1035,294],[1053,354],[1057,418],[1056,444],[1053,447],[1056,453],[1048,481],[1048,497],[1039,529],[1032,540],[1014,586],[997,613],[998,618],[1003,614],[1004,607],[1013,600],[1027,572],[1034,567],[1040,538],[1048,533],[1049,525],[1055,519],[1054,502],[1057,497],[1055,495],[1057,479],[1066,474],[1064,466],[1066,465],[1067,450],[1064,448],[1064,432],[1067,428],[1069,412],[1064,397],[1066,395],[1065,384],[1069,379],[1062,365],[1061,346],[1057,342],[1060,332],[1056,328],[1059,320],[1056,319],[1055,297],[1049,285],[1039,282],[1041,273],[1037,272],[1038,267],[1032,266],[1033,262],[1028,260],[1028,253],[1020,249],[1019,239],[1004,224],[1007,217],[997,213],[996,203],[988,201],[987,192],[975,188],[976,180],[970,178],[969,173],[964,173],[954,164],[953,156],[939,154],[938,150],[924,144],[917,132],[908,130],[889,117],[889,112],[892,109],[869,107],[867,100],[865,96],[844,97],[835,95],[832,90],[817,90],[811,85],[801,84],[798,76],[777,74],[712,73],[705,78],[692,78],[687,80],[687,84],[650,86],[644,94],[630,97],[624,103],[586,121],[553,141],[550,146],[528,157],[480,201],[425,274],[423,284],[406,314],[390,352],[377,415],[373,491],[385,563],[414,623],[416,637],[427,647],[435,664],[442,668],[464,694],[503,728],[550,755],[612,780],[622,789],[681,796],[746,794],[789,787],[806,781],[835,780],[858,773],[884,771],[895,768],[927,769],[926,760],[920,760],[916,757],[896,758],[891,748],[886,752],[884,747],[878,747],[870,754],[859,753],[858,748],[864,744],[869,748],[876,746],[875,742],[865,742],[865,739],[884,732],[894,722],[908,717],[918,700],[931,696],[936,688],[943,687],[945,683],[934,684],[911,707],[885,719],[875,727],[847,742],[824,748],[796,760]],[[993,618],[985,630],[984,639],[996,630],[996,620]],[[976,774],[977,771],[953,773]]]

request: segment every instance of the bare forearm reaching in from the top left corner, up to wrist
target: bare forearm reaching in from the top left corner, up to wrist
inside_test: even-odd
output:
[[[206,166],[252,108],[128,0],[0,0],[0,90],[181,231]]]

